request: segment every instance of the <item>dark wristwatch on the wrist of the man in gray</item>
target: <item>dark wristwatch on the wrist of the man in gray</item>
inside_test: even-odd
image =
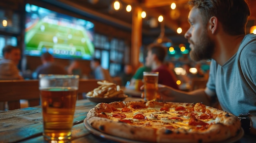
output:
[[[241,123],[243,130],[245,131],[245,134],[249,134],[250,129],[252,128],[252,120],[249,115],[250,113],[242,113],[238,116],[238,119]]]

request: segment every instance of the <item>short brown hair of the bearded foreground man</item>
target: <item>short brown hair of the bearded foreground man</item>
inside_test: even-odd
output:
[[[190,0],[189,4],[199,9],[205,26],[211,17],[216,16],[226,33],[245,34],[251,14],[247,0]]]

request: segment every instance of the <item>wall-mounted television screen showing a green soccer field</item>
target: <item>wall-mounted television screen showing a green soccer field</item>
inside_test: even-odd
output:
[[[26,4],[25,55],[49,52],[56,58],[91,59],[94,24]]]

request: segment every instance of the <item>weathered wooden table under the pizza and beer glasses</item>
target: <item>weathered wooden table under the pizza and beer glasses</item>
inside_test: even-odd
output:
[[[128,97],[127,101],[141,100]],[[78,100],[74,114],[71,143],[117,143],[91,134],[83,124],[88,111],[96,103]],[[0,112],[0,143],[47,143],[43,139],[43,120],[40,106]],[[245,135],[238,143],[253,143],[255,136]]]

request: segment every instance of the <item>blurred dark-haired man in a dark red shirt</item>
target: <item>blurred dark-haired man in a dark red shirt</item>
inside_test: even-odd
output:
[[[167,48],[160,44],[150,44],[148,46],[148,54],[146,57],[146,66],[151,67],[152,72],[159,72],[158,84],[170,86],[179,89],[176,81],[171,73],[164,65],[164,57],[166,56]]]

